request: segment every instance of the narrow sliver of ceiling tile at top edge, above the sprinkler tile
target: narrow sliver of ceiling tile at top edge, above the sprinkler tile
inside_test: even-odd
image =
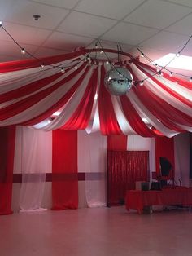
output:
[[[63,7],[67,9],[72,9],[78,1],[79,0],[34,0],[32,2],[41,2],[48,4],[52,7]]]

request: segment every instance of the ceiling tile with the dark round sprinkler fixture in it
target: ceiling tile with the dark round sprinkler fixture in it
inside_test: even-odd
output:
[[[68,10],[59,7],[50,7],[37,2],[19,1],[11,7],[5,20],[42,29],[55,29],[61,20],[68,15],[68,12]],[[41,18],[34,20],[34,14],[41,15]]]

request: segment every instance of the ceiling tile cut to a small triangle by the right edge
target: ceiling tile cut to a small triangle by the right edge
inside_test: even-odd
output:
[[[191,24],[192,24],[192,14],[186,16],[184,19],[177,21],[177,23],[173,24],[172,26],[168,27],[166,30],[175,33],[181,33],[185,35],[191,35]]]

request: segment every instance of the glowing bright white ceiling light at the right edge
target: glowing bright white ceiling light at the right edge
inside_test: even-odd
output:
[[[170,60],[172,61],[168,64]],[[169,68],[192,70],[192,57],[186,55],[180,55],[177,57],[174,53],[169,53],[168,55],[164,55],[164,57],[155,60],[153,64],[158,64],[162,67],[166,66]]]

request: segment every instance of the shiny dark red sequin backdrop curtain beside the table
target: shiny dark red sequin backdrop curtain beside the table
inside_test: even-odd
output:
[[[148,151],[108,151],[108,205],[120,205],[136,181],[149,181]]]

